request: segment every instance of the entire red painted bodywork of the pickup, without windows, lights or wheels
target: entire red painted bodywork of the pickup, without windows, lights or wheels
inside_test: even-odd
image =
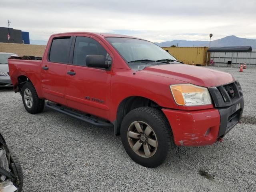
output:
[[[98,41],[112,57],[110,70],[74,66],[48,61],[52,39],[60,36],[86,36]],[[9,59],[14,88],[18,77],[24,75],[35,86],[38,96],[114,122],[119,104],[131,96],[140,96],[162,107],[174,134],[175,144],[198,146],[217,140],[220,115],[212,104],[178,106],[169,85],[191,83],[211,87],[234,81],[232,75],[185,64],[167,64],[133,71],[105,37],[127,37],[116,34],[72,32],[52,35],[42,61]],[[42,67],[47,66],[48,70]],[[76,72],[75,76],[67,74]],[[87,100],[96,98],[103,102]],[[204,136],[206,130],[210,133]]]

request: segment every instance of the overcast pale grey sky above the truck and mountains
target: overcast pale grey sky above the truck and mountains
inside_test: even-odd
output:
[[[59,32],[109,32],[153,42],[256,38],[256,0],[0,0],[0,26],[48,40]]]

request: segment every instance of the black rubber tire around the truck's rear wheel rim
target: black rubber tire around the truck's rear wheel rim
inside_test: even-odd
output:
[[[32,94],[33,104],[32,104],[31,108],[29,108],[25,103],[24,92],[26,89],[28,89]],[[23,101],[24,107],[26,108],[27,112],[29,112],[31,114],[40,113],[44,109],[44,100],[38,98],[36,89],[34,88],[34,86],[31,82],[25,83],[24,86],[22,87],[22,101]]]

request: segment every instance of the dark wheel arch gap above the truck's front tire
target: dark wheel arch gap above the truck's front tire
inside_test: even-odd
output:
[[[139,107],[154,107],[154,108],[161,108],[159,104],[154,102],[153,100],[149,98],[145,98],[142,96],[129,96],[127,98],[124,98],[120,104],[118,105],[118,108],[116,110],[116,120],[114,121],[114,132],[116,135],[120,135],[120,128],[121,123],[126,114],[130,112],[131,110],[134,110]]]

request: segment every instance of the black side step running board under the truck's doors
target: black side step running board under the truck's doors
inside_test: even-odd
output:
[[[74,112],[72,110],[66,109],[66,108],[64,108],[62,106],[57,106],[56,104],[52,104],[50,102],[47,102],[46,106],[48,108],[51,108],[51,109],[56,110],[58,112],[61,112],[63,114],[72,116],[74,118],[80,119],[80,120],[82,120],[82,121],[84,121],[86,123],[90,123],[90,124],[95,125],[95,126],[113,127],[112,123],[104,122],[104,121],[101,121],[101,120],[98,120],[98,119],[95,119],[95,118],[92,118],[92,117],[88,117],[88,116],[83,115],[83,114],[76,113],[76,112]]]

